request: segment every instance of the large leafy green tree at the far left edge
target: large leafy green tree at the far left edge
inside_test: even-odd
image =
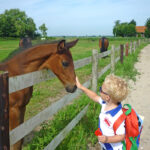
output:
[[[19,9],[5,10],[0,14],[1,37],[33,37],[36,25],[32,18],[28,18],[24,11]]]

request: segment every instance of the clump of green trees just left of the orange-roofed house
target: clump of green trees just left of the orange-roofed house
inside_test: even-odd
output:
[[[114,36],[121,37],[132,37],[136,35],[135,29],[136,22],[132,20],[130,23],[120,23],[119,20],[115,22],[115,26],[113,28]]]

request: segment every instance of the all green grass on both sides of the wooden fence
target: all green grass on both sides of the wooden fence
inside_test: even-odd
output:
[[[112,44],[114,44],[115,46],[119,46],[120,44],[124,44],[128,41],[133,40],[135,40],[135,38],[110,38],[109,49],[111,48]],[[13,50],[17,49],[18,45],[19,40],[0,41],[0,61],[5,59]],[[118,63],[116,65],[115,74],[135,80],[137,71],[134,69],[133,65],[137,61],[137,55],[140,52],[140,49],[144,46],[145,45],[141,45],[135,55],[130,55],[129,57],[127,57],[123,65]],[[84,57],[91,56],[92,49],[99,49],[98,38],[80,38],[77,45],[71,49],[73,59],[78,60]],[[101,70],[109,63],[110,57],[103,59],[103,61],[99,61],[99,70]],[[101,77],[98,83],[102,83],[108,73],[109,71],[105,73],[103,77]],[[91,75],[91,64],[76,70],[76,74],[78,75],[82,83],[87,81],[89,76]],[[58,79],[49,80],[35,85],[33,97],[31,98],[31,101],[27,106],[25,119],[27,120],[35,114],[39,113],[41,110],[49,106],[54,101],[58,100],[64,94],[66,94],[66,92]],[[51,120],[48,125],[42,124],[43,130],[38,132],[32,143],[29,145],[25,145],[24,149],[41,150],[50,142],[50,140],[55,135],[60,132],[61,129],[63,129],[67,125],[67,123],[69,123],[69,121],[71,121],[75,117],[77,113],[81,111],[81,109],[87,103],[90,103],[88,113],[57,149],[64,150],[72,147],[72,149],[74,150],[84,150],[87,148],[86,146],[88,143],[91,143],[92,145],[95,144],[97,139],[94,136],[94,131],[97,128],[98,124],[98,114],[100,111],[100,106],[95,105],[83,94],[80,98],[74,100],[72,105],[69,105],[62,109],[54,117],[55,119]]]

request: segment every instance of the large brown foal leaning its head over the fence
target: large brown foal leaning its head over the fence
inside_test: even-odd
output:
[[[0,64],[0,70],[8,71],[9,77],[50,69],[60,79],[67,92],[76,90],[75,72],[72,55],[69,48],[78,40],[66,43],[42,44],[29,48],[14,56],[7,62]],[[9,95],[9,123],[10,130],[24,122],[26,105],[32,96],[33,87],[11,93]],[[14,144],[12,150],[20,150],[23,141]]]

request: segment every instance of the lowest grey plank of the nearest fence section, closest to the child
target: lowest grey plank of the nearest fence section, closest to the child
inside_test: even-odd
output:
[[[88,105],[48,144],[44,150],[54,150],[87,112]]]

